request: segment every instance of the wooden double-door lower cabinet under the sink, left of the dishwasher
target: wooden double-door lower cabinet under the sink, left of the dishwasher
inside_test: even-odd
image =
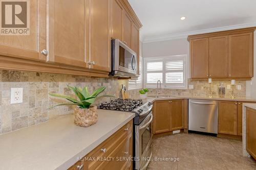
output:
[[[184,100],[154,102],[154,134],[184,128]]]

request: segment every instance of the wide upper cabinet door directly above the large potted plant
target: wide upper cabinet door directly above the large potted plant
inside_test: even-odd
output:
[[[49,1],[50,61],[87,67],[86,1]]]

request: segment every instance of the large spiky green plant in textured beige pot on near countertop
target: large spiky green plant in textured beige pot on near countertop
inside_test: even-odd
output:
[[[56,106],[63,106],[63,105],[77,106],[75,107],[75,112],[74,112],[74,122],[76,125],[82,126],[82,127],[89,127],[98,121],[97,106],[92,105],[95,103],[97,99],[102,98],[104,96],[114,97],[113,95],[98,96],[102,91],[105,90],[105,87],[98,88],[92,94],[90,94],[88,87],[81,88],[81,87],[72,87],[68,85],[68,88],[75,93],[78,100],[72,98],[69,95],[49,93],[51,96],[63,98],[71,102],[71,103],[61,103],[61,104],[52,106],[51,108]]]

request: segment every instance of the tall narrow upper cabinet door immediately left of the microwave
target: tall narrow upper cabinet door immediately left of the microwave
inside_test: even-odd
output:
[[[111,0],[88,0],[90,68],[111,71],[110,5]]]

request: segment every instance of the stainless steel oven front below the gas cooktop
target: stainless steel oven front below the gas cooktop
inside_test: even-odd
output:
[[[148,155],[152,155],[149,153],[152,143],[152,120],[153,114],[152,112],[148,114],[148,116],[143,120],[143,122],[135,126],[135,156],[139,157],[139,161],[135,162],[136,169],[144,168],[144,165],[148,164],[148,159],[146,158]]]

